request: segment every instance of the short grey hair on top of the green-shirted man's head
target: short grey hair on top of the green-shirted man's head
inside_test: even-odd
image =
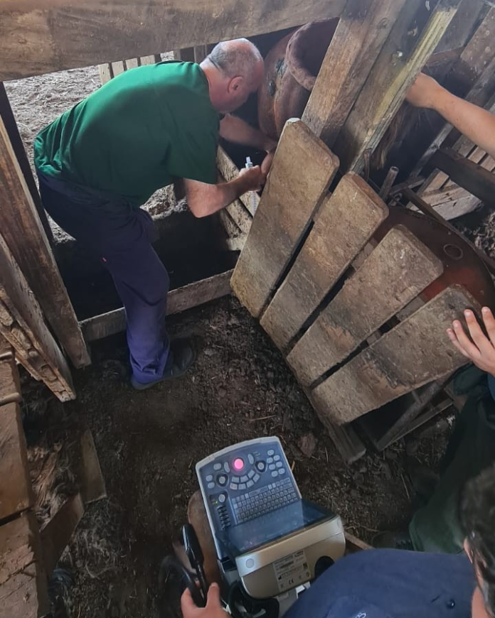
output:
[[[263,61],[260,50],[247,38],[225,40],[215,45],[207,60],[227,77],[247,77],[254,74],[258,63]]]

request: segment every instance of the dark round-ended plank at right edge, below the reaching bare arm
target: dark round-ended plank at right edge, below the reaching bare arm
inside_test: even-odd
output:
[[[441,148],[431,159],[432,166],[488,205],[495,204],[495,174],[464,158],[450,148]]]

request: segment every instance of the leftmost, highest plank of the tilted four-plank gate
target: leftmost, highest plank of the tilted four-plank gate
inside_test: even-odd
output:
[[[338,169],[339,160],[302,121],[287,121],[232,278],[252,315],[265,307]]]

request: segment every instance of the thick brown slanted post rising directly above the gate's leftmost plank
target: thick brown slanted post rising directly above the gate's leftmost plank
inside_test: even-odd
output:
[[[405,0],[347,0],[302,121],[332,146]]]

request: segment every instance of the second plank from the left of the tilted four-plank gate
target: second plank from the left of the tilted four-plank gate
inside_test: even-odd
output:
[[[260,320],[277,347],[289,345],[387,215],[380,197],[353,172],[325,198],[292,269]]]

